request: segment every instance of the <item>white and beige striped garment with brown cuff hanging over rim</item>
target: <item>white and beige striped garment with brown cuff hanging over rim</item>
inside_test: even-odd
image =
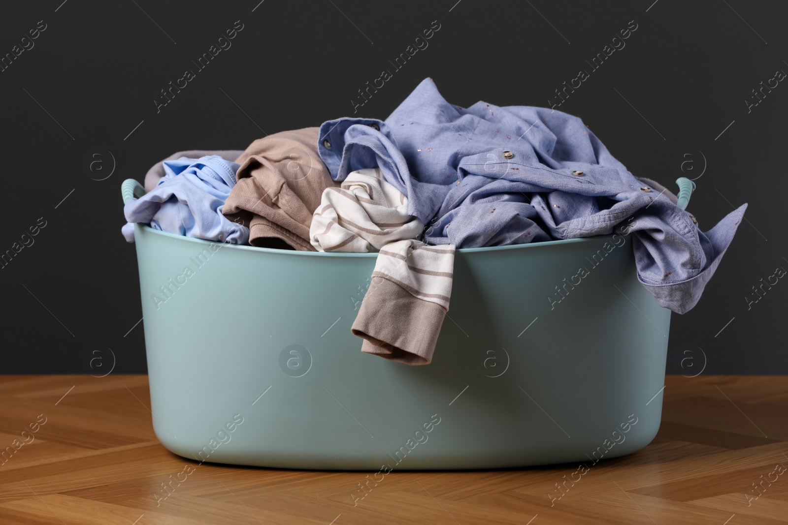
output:
[[[361,350],[405,364],[432,362],[452,296],[454,245],[415,240],[424,224],[376,169],[323,191],[310,227],[318,251],[378,252],[372,283],[351,331]]]

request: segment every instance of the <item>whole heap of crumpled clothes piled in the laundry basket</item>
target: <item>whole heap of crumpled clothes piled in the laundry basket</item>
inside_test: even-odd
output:
[[[708,232],[636,178],[578,117],[452,105],[425,79],[386,120],[345,117],[245,151],[184,151],[154,165],[132,223],[281,250],[378,253],[351,330],[362,351],[429,364],[455,248],[633,234],[637,278],[665,308],[701,298],[747,205]]]

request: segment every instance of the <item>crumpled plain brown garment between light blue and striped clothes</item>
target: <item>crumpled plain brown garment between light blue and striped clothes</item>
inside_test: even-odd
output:
[[[249,227],[252,246],[317,251],[309,242],[323,190],[338,187],[318,155],[318,128],[282,131],[252,142],[236,159],[223,212]],[[286,244],[284,244],[286,243]]]

